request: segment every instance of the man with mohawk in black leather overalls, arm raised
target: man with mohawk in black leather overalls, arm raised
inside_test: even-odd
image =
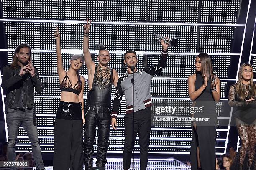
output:
[[[110,136],[111,123],[111,89],[112,84],[116,86],[118,73],[108,66],[110,54],[105,46],[100,44],[100,51],[97,57],[99,63],[95,65],[89,52],[89,31],[90,23],[84,24],[83,52],[85,65],[88,71],[89,92],[84,109],[84,165],[85,170],[92,168],[92,156],[94,153],[93,144],[95,129],[98,126],[97,144],[97,167],[105,167],[107,163],[106,154]]]

